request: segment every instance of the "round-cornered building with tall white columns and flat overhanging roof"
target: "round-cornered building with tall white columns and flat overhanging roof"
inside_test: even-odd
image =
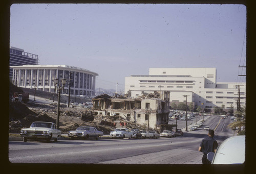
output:
[[[63,93],[68,94],[69,82],[71,95],[95,95],[96,72],[68,65],[23,65],[13,68],[12,82],[22,88],[54,92],[57,78],[67,79]]]

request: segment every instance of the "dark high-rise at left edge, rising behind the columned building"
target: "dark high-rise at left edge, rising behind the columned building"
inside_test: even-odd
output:
[[[10,47],[9,66],[38,65],[38,55],[24,52],[24,49]],[[9,78],[12,79],[13,69],[10,68]]]

